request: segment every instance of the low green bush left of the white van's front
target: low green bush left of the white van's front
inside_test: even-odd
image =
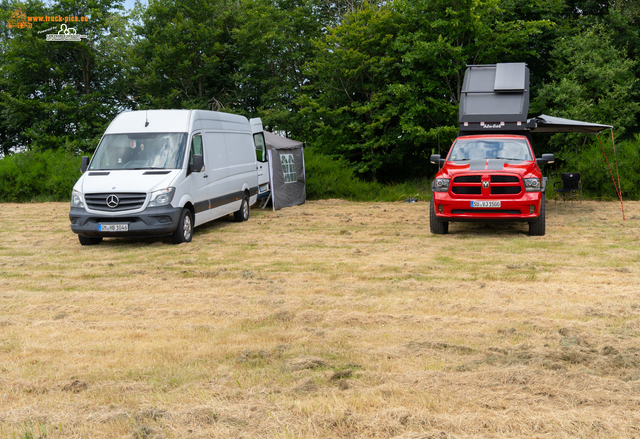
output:
[[[0,202],[66,201],[80,177],[80,157],[27,151],[0,160]]]

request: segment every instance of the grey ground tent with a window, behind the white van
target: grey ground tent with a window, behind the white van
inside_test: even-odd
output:
[[[304,143],[264,132],[269,160],[273,210],[303,204],[307,199]]]

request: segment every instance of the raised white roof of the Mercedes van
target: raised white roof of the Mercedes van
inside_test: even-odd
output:
[[[139,110],[116,116],[105,134],[188,133],[192,129],[249,132],[246,117],[206,110]]]

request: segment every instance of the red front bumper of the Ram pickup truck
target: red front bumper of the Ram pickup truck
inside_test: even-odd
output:
[[[543,192],[525,192],[518,199],[460,198],[434,192],[436,217],[448,222],[533,222],[540,215]],[[473,201],[500,201],[500,207],[472,207]]]

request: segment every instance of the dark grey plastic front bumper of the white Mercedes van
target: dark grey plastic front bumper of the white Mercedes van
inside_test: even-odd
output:
[[[151,207],[144,211],[132,215],[123,213],[118,216],[101,216],[100,214],[89,213],[78,207],[72,207],[69,211],[71,221],[71,231],[82,236],[102,236],[108,237],[147,237],[147,236],[168,236],[178,227],[180,207]],[[126,232],[105,232],[99,230],[99,225],[127,224]]]

